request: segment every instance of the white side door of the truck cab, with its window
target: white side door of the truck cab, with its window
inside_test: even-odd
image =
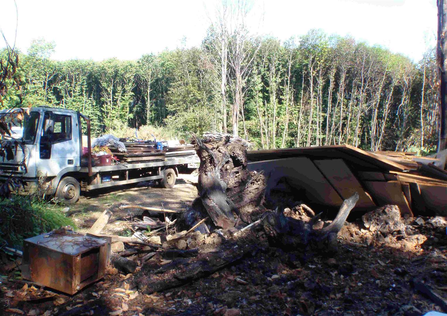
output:
[[[46,126],[50,122],[50,126]],[[45,112],[39,142],[38,174],[53,177],[80,164],[79,126],[76,114]]]

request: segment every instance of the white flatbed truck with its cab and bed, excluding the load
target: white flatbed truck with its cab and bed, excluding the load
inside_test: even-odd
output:
[[[82,143],[81,120],[87,122],[88,144]],[[160,179],[164,187],[173,187],[177,166],[198,163],[194,155],[169,161],[92,166],[91,149],[87,158],[82,157],[83,146],[90,146],[89,119],[62,108],[32,108],[23,122],[22,135],[12,137],[6,142],[15,147],[14,157],[0,158],[0,181],[21,177],[26,185],[20,193],[33,193],[43,186],[46,194],[55,195],[65,204],[76,203],[80,191],[101,187],[155,179]],[[24,144],[23,150],[18,143]]]

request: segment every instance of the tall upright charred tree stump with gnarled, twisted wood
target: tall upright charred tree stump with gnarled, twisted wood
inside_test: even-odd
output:
[[[199,198],[186,213],[186,222],[194,225],[207,213],[214,225],[230,229],[240,217],[246,223],[264,197],[265,179],[262,174],[247,170],[246,147],[242,139],[228,134],[204,139],[193,136],[200,158]],[[242,210],[242,212],[240,212]],[[259,211],[258,215],[261,215]],[[204,227],[198,228],[204,233]]]

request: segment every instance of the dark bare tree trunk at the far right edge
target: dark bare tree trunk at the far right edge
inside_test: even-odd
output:
[[[438,152],[447,148],[447,1],[437,0],[438,43],[436,55],[439,73],[439,142]]]

